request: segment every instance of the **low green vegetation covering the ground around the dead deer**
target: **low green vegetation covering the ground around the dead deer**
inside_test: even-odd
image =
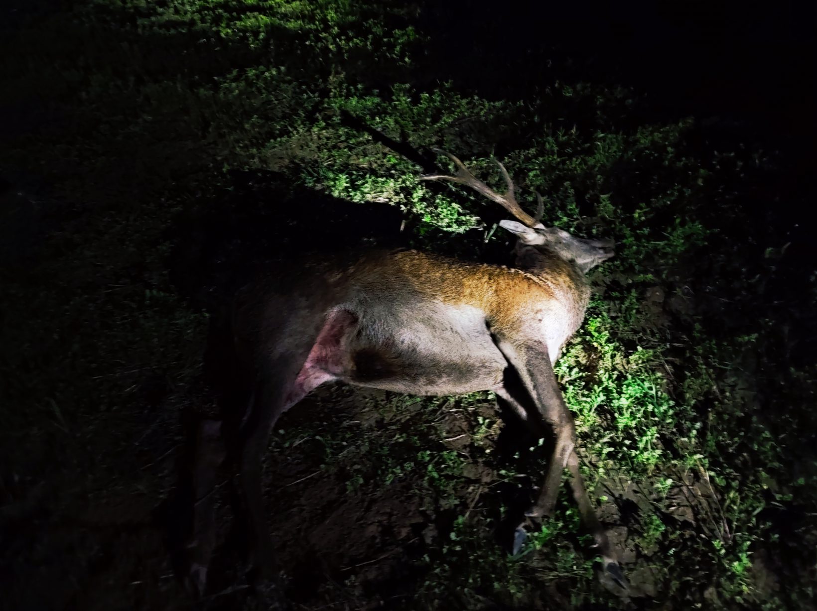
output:
[[[103,515],[135,506],[135,520],[147,521],[167,496],[179,413],[213,404],[201,368],[208,314],[181,294],[168,261],[179,257],[179,236],[199,230],[185,223],[220,199],[239,207],[254,198],[242,212],[256,206],[282,218],[288,197],[304,190],[399,207],[418,247],[484,256],[483,240],[468,238],[488,234],[480,218],[498,211],[451,185],[417,181],[417,163],[351,117],[413,149],[450,150],[501,185],[497,154],[528,205],[534,190],[545,195],[547,222],[616,240],[557,373],[588,485],[639,604],[810,609],[817,463],[804,431],[817,426],[817,377],[793,363],[783,329],[796,334],[813,311],[817,277],[795,287],[797,305],[775,305],[780,266],[797,261],[780,263],[782,232],[759,222],[739,190],[782,172],[779,154],[751,143],[708,148],[692,118],[641,122],[642,102],[624,88],[554,79],[496,99],[437,80],[423,56],[431,33],[419,25],[422,4],[77,4],[2,42],[2,101],[24,128],[10,132],[0,163],[40,202],[42,224],[29,247],[16,241],[25,214],[0,210],[2,238],[16,252],[0,270],[3,477],[16,478],[6,484],[9,516],[33,498],[48,515],[85,515],[90,502]],[[240,172],[273,183],[280,199],[241,183]],[[309,226],[297,230],[309,237]],[[305,465],[305,481],[292,477],[270,506],[337,479],[346,495],[338,503],[408,494],[420,506],[394,520],[427,524],[419,534],[395,528],[405,556],[350,552],[340,577],[318,573],[303,609],[333,600],[363,609],[390,595],[391,582],[364,573],[378,558],[406,588],[390,608],[627,608],[596,582],[567,490],[519,555],[493,537],[508,499],[538,485],[546,457],[535,443],[498,455],[492,397],[342,392],[319,395],[303,408],[310,417],[298,420],[296,409],[276,427],[270,469]],[[341,405],[355,416],[338,413]],[[50,493],[38,496],[42,488]],[[307,527],[321,523],[313,518]],[[270,517],[274,530],[278,520]],[[114,554],[110,542],[100,551],[50,524],[47,535],[21,527],[20,600],[40,600],[32,567],[45,548],[84,555],[69,577],[42,569],[81,584],[82,595],[72,586],[55,594],[65,600],[103,596],[105,580],[148,583],[148,573],[155,581],[134,600],[157,608],[170,596],[172,580],[155,577],[169,570],[158,536],[153,547],[135,548],[138,535],[119,540]],[[296,558],[293,547],[285,557]],[[114,566],[102,577],[92,564],[100,557]],[[357,563],[367,566],[347,570]]]

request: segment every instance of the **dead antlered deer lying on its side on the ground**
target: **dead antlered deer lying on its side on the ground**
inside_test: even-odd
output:
[[[606,581],[626,588],[584,488],[573,417],[553,372],[562,347],[583,321],[590,296],[585,274],[613,256],[613,243],[574,238],[529,216],[516,202],[502,163],[507,193],[498,194],[453,154],[436,152],[454,163],[456,173],[422,180],[467,185],[519,221],[499,224],[516,234],[515,268],[413,250],[369,251],[275,272],[236,297],[236,354],[252,383],[236,462],[255,560],[264,568],[272,556],[261,455],[275,421],[311,390],[328,381],[413,395],[493,390],[534,430],[549,426],[555,436],[541,492],[526,515],[551,514],[567,467],[583,524],[604,560]],[[201,463],[196,494],[204,498],[214,480],[212,461]],[[201,588],[212,544],[199,538],[190,548],[197,546],[191,572]]]

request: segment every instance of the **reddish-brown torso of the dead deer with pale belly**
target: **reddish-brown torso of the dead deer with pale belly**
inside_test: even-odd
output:
[[[538,331],[555,362],[582,321],[589,289],[558,257],[526,256],[535,265],[523,271],[417,251],[370,252],[340,269],[319,266],[324,290],[316,303],[311,278],[289,284],[285,294],[276,294],[276,283],[245,288],[251,304],[259,292],[270,291],[267,304],[281,304],[273,306],[278,311],[297,295],[303,305],[295,316],[304,324],[324,321],[312,331],[314,344],[284,409],[331,380],[413,395],[502,389],[508,363],[493,335],[520,319]],[[248,311],[240,298],[235,314],[248,362],[269,346],[289,349],[257,328],[257,311]]]

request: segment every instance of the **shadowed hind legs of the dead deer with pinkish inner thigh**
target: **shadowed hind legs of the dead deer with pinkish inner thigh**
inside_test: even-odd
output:
[[[233,372],[227,385],[229,392],[222,400],[225,421],[208,420],[199,424],[190,478],[191,528],[184,552],[186,581],[195,593],[202,595],[207,582],[216,538],[217,469],[228,453],[239,471],[239,496],[247,518],[249,563],[262,577],[272,575],[275,562],[263,511],[261,456],[270,430],[281,414],[317,386],[336,378],[333,371],[342,364],[342,341],[355,323],[355,316],[338,311],[330,314],[311,338],[308,334],[293,337],[294,341],[289,341],[283,350],[281,346],[287,344],[288,337],[268,341],[267,345],[275,346],[278,354],[257,363],[255,381],[244,370]],[[223,368],[224,363],[221,365],[218,369]]]

